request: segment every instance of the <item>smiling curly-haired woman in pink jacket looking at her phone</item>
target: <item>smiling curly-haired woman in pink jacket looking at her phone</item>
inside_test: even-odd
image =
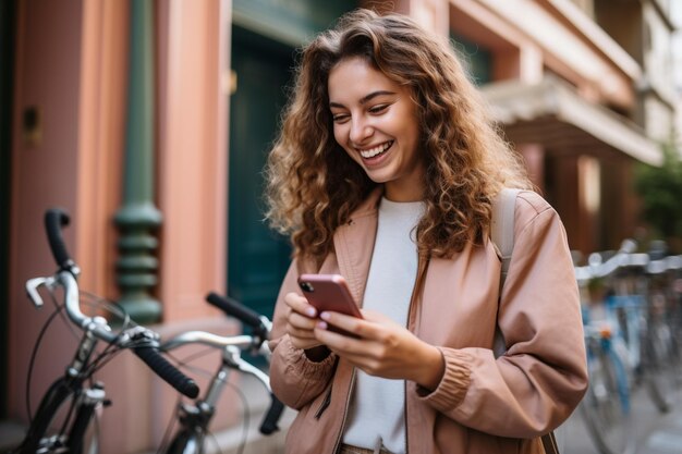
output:
[[[299,410],[287,452],[543,452],[587,383],[573,266],[448,44],[401,15],[342,17],[303,50],[267,175],[294,245],[270,342]],[[526,191],[500,295],[502,187]],[[342,274],[364,318],[317,314],[302,273]]]

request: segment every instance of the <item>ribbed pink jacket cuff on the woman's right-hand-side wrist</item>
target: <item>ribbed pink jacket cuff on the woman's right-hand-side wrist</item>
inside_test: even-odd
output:
[[[459,406],[464,400],[471,383],[468,365],[473,364],[474,358],[461,349],[442,347],[438,349],[446,365],[442,379],[433,392],[417,386],[417,395],[423,402],[444,413]]]

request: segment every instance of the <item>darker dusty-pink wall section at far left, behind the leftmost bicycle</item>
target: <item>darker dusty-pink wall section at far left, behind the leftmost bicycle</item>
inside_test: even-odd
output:
[[[42,212],[62,206],[77,217],[78,102],[81,22],[77,0],[17,2],[17,62],[15,124],[12,149],[12,217],[10,258],[10,416],[24,415],[27,360],[49,308],[36,311],[25,296],[26,279],[48,274],[54,263],[42,231]],[[23,143],[20,119],[37,106],[42,114],[39,144]],[[65,234],[74,245],[75,231]],[[72,247],[73,254],[82,253]],[[57,328],[57,327],[56,327]],[[49,332],[32,383],[33,395],[45,389],[50,371],[63,369],[62,345],[72,338],[63,330]],[[35,402],[35,401],[34,401]]]

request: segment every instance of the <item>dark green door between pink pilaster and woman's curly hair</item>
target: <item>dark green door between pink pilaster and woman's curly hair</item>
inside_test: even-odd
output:
[[[230,103],[228,293],[268,317],[291,249],[263,220],[261,172],[292,66],[292,48],[233,27],[236,90]]]

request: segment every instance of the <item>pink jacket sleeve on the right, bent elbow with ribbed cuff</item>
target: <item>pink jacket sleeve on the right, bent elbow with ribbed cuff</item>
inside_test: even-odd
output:
[[[498,308],[507,352],[440,348],[438,388],[421,398],[473,429],[534,438],[563,422],[587,386],[580,296],[565,232],[537,194],[516,201],[514,250]]]

